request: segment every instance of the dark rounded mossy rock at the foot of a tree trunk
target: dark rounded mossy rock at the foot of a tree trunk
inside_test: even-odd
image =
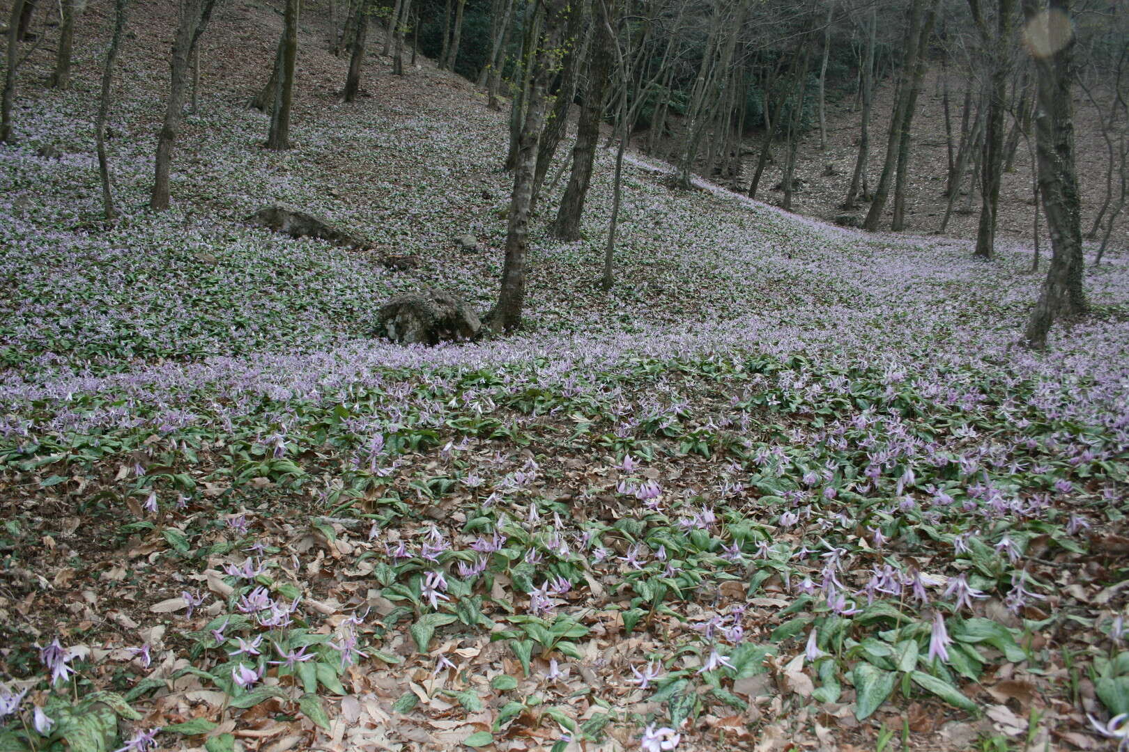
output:
[[[462,299],[438,290],[396,295],[377,313],[378,334],[404,345],[475,339],[479,315]]]

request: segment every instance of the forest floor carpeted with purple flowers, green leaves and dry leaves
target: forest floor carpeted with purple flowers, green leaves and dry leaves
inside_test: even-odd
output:
[[[339,105],[314,26],[297,148],[265,151],[229,56],[265,69],[279,20],[226,6],[150,214],[174,14],[134,12],[123,218],[98,221],[97,35],[72,91],[33,57],[0,148],[0,749],[1118,744],[1123,256],[1032,353],[1026,249],[632,158],[603,293],[602,153],[584,241],[542,235],[562,182],[541,201],[524,331],[396,347],[387,297],[496,294],[505,114],[376,56]],[[274,201],[421,265],[244,223]]]

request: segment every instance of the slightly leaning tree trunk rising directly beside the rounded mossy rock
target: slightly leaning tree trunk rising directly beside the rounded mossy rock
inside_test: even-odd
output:
[[[501,273],[498,303],[487,316],[493,333],[513,331],[522,324],[525,304],[525,257],[530,247],[530,210],[533,205],[533,172],[537,161],[537,139],[544,127],[545,98],[549,80],[557,64],[558,46],[563,32],[567,0],[542,0],[539,15],[544,17],[543,30],[531,35],[526,60],[531,63],[530,94],[525,117],[518,134],[514,165],[514,193],[510,198],[509,227],[506,231],[506,260]]]

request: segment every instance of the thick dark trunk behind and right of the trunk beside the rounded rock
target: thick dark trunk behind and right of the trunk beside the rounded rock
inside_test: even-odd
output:
[[[580,239],[580,218],[584,214],[584,202],[592,182],[596,144],[599,142],[599,122],[612,71],[613,44],[614,41],[603,24],[596,24],[595,38],[588,50],[588,88],[580,106],[576,144],[572,147],[572,170],[557,212],[557,221],[552,225],[553,235],[561,240]]]

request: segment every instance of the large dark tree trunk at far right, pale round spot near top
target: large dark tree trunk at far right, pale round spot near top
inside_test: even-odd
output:
[[[1025,333],[1027,344],[1036,348],[1047,346],[1047,334],[1056,318],[1079,316],[1087,310],[1074,161],[1070,81],[1075,38],[1070,28],[1070,0],[1050,0],[1051,14],[1040,14],[1041,5],[1039,0],[1023,0],[1023,15],[1029,26],[1027,45],[1039,81],[1039,114],[1035,117],[1039,187],[1051,236],[1050,268]]]

